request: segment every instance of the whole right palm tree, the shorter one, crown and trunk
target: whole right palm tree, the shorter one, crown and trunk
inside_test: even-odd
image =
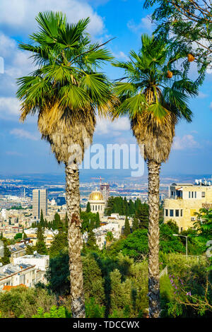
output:
[[[162,162],[170,154],[179,119],[192,121],[187,106],[197,87],[187,73],[176,69],[183,54],[172,54],[172,47],[154,36],[141,36],[139,53],[131,51],[129,61],[113,65],[125,70],[125,76],[116,83],[115,92],[120,105],[114,117],[128,115],[131,129],[148,165],[148,297],[149,314],[160,314],[159,289],[159,174]]]

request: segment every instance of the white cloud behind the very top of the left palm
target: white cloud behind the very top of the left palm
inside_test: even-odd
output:
[[[73,23],[89,16],[88,32],[93,35],[99,35],[104,28],[102,18],[85,0],[1,0],[0,26],[16,35],[29,34],[37,26],[35,16],[39,11],[62,11]]]

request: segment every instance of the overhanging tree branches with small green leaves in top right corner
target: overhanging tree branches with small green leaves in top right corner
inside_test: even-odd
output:
[[[196,61],[203,82],[206,68],[212,69],[212,10],[211,0],[145,0],[145,7],[153,6],[151,16],[156,23],[156,35],[172,42],[187,59]]]

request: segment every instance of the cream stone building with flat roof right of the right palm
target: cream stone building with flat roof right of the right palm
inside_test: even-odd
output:
[[[200,208],[212,208],[211,184],[179,184],[169,187],[169,198],[164,200],[164,222],[175,220],[179,231],[194,227],[195,213]]]

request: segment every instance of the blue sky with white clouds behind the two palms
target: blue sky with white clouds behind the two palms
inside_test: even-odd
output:
[[[105,42],[116,37],[108,47],[116,59],[124,60],[130,49],[141,46],[141,33],[151,33],[151,11],[143,10],[143,1],[134,0],[1,0],[0,57],[4,58],[4,73],[0,73],[0,174],[63,172],[51,149],[40,140],[36,118],[25,124],[18,121],[16,78],[33,70],[28,54],[18,50],[18,40],[28,40],[36,30],[35,16],[39,11],[54,10],[66,13],[69,22],[90,16],[88,32],[93,40]],[[114,79],[122,72],[112,66],[105,68]],[[192,66],[195,78],[196,68]],[[199,96],[191,100],[194,112],[192,124],[177,125],[175,141],[169,161],[163,165],[165,173],[211,174],[212,172],[212,73],[206,75]],[[99,120],[94,143],[135,143],[128,119],[115,123]],[[111,171],[112,172],[112,171]]]

